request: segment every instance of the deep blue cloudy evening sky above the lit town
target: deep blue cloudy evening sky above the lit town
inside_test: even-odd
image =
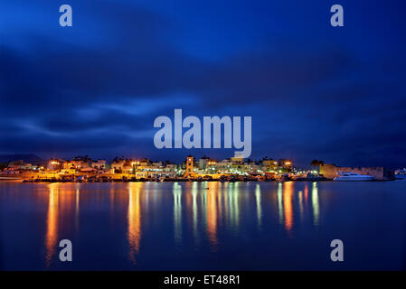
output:
[[[59,25],[59,6],[73,26]],[[330,25],[330,6],[345,27]],[[2,1],[0,154],[157,150],[158,116],[251,116],[253,158],[406,165],[404,1]]]

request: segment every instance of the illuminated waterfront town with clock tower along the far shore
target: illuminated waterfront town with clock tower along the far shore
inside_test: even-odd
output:
[[[328,181],[343,172],[368,175],[377,181],[394,180],[395,173],[383,167],[340,167],[314,160],[309,169],[299,169],[292,160],[259,161],[239,155],[224,160],[188,155],[183,163],[116,157],[110,163],[77,156],[71,160],[51,159],[42,163],[24,160],[2,163],[0,179],[24,182],[168,182],[168,181]],[[400,173],[399,173],[400,174]]]

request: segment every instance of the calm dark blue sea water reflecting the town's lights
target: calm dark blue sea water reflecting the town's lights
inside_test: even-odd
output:
[[[0,182],[0,268],[404,270],[406,181]]]

